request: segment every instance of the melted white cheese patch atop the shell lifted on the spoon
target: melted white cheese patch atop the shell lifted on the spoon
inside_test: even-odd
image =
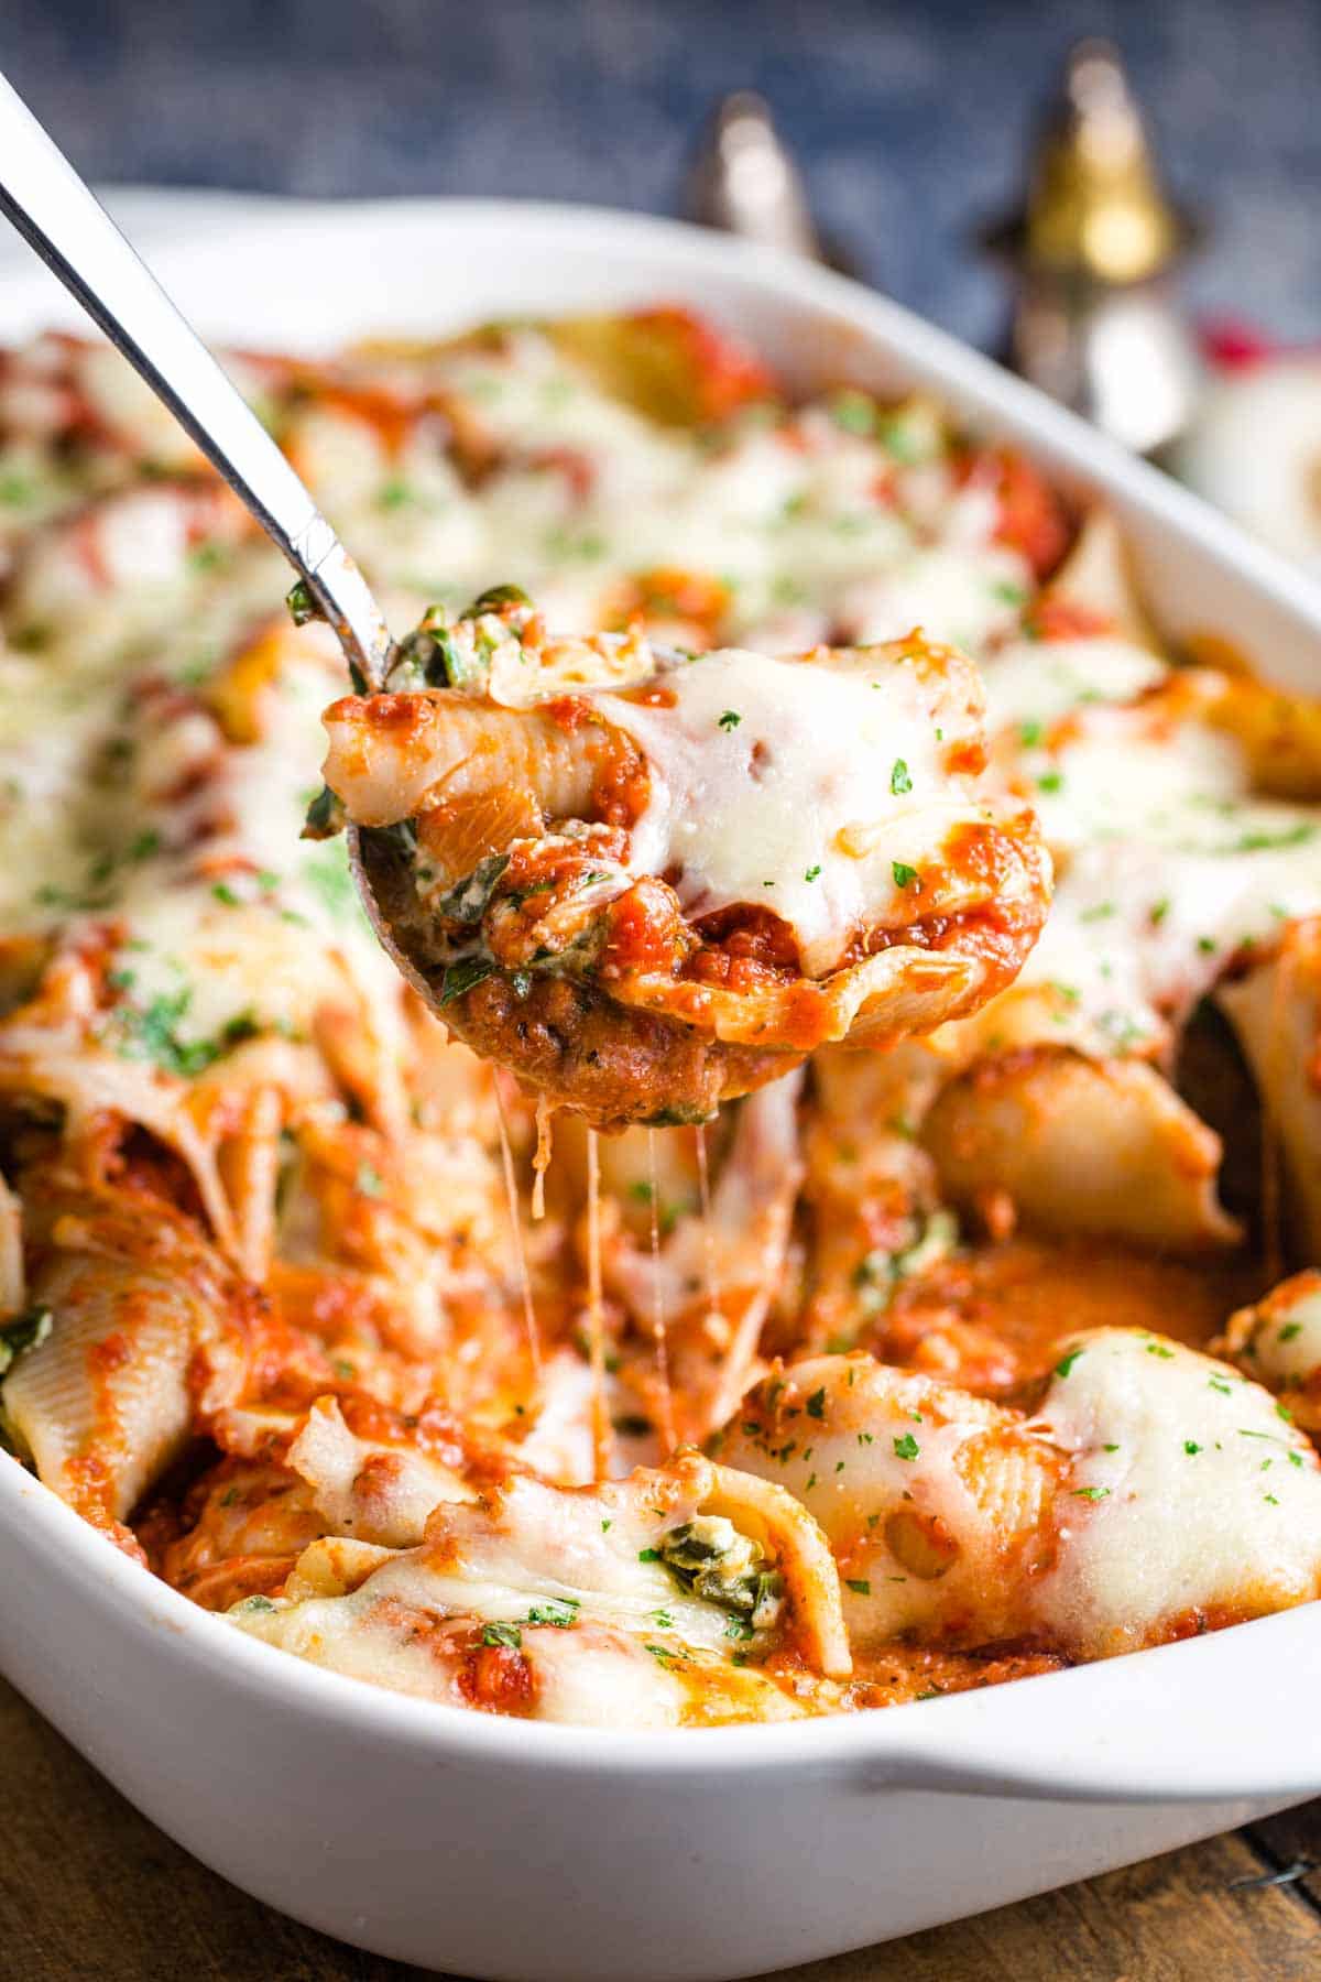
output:
[[[915,890],[897,870],[921,876],[968,817],[945,751],[974,712],[941,678],[862,652],[806,666],[725,648],[665,684],[663,710],[596,698],[652,769],[638,872],[671,880],[691,918],[774,910],[808,975],[832,969],[860,926],[911,920]]]

